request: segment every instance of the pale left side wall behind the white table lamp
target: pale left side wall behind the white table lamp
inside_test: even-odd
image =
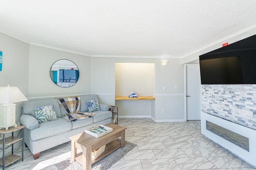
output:
[[[0,32],[3,67],[0,86],[17,86],[28,97],[29,45]],[[16,123],[20,121],[22,102],[16,104]]]

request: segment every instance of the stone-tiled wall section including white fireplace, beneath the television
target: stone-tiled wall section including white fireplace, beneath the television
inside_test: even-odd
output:
[[[202,134],[256,167],[256,85],[202,85]],[[213,125],[214,131],[207,125]],[[218,128],[219,127],[219,128]],[[222,134],[216,131],[220,130]],[[226,130],[225,130],[226,129]],[[248,139],[248,149],[228,141],[228,133]]]

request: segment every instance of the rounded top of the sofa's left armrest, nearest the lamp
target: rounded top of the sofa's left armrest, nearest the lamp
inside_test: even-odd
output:
[[[30,131],[39,127],[38,120],[32,115],[22,114],[20,116],[20,122],[23,126],[25,126]]]

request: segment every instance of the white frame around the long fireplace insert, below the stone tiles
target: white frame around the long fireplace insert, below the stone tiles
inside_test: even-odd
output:
[[[222,137],[212,133],[211,131],[208,131],[206,129],[206,121],[210,121],[211,123],[233,131],[234,133],[247,137],[249,139],[250,151],[248,152],[231,143],[230,141],[227,141],[226,139],[223,139]],[[210,115],[208,113],[201,112],[201,133],[211,141],[217,143],[224,149],[232,152],[234,155],[238,156],[239,158],[256,168],[256,130],[239,125],[237,123],[233,123],[220,117]]]

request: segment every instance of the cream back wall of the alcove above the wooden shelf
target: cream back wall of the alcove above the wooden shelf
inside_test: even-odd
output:
[[[155,63],[116,63],[115,96],[155,97]]]

